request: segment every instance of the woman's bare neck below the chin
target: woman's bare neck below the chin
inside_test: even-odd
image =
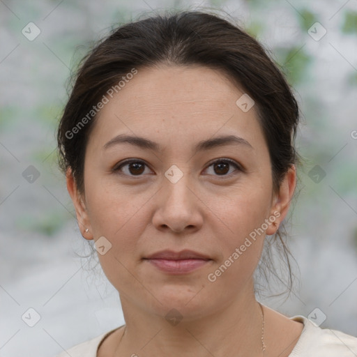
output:
[[[182,308],[177,324],[140,309],[125,296],[121,305],[126,328],[114,356],[264,356],[261,307],[254,294],[241,294],[211,314],[201,312],[201,317],[190,318]]]

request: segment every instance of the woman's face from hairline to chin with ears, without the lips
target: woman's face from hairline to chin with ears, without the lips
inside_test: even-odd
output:
[[[253,296],[265,234],[277,229],[289,197],[273,195],[268,147],[243,94],[218,71],[162,66],[138,70],[101,109],[82,204],[70,175],[68,187],[84,236],[100,238],[103,271],[136,308],[160,316],[175,308],[190,319]],[[162,271],[144,259],[161,250],[210,260]]]

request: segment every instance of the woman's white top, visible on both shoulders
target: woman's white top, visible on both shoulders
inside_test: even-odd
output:
[[[289,357],[356,357],[357,337],[347,335],[341,331],[320,328],[314,321],[302,315],[289,319],[304,324],[301,336]],[[120,326],[122,327],[122,326]],[[118,328],[94,337],[89,341],[77,344],[75,347],[63,351],[56,357],[97,357],[100,342]]]

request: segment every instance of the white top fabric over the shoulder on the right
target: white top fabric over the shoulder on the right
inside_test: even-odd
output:
[[[302,315],[291,317],[303,322],[304,327],[289,357],[356,357],[357,337],[342,331],[320,328]]]

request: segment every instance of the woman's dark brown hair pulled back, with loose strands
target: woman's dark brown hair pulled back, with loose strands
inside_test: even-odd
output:
[[[160,64],[220,70],[255,100],[276,192],[289,167],[298,163],[294,149],[299,121],[296,99],[278,65],[255,38],[218,15],[193,10],[156,14],[124,24],[82,59],[57,134],[59,165],[63,172],[72,169],[79,192],[84,192],[84,155],[96,119],[93,106],[133,68],[160,68]],[[275,239],[280,238],[291,283],[291,253],[281,228]],[[269,270],[275,273],[273,267]]]

